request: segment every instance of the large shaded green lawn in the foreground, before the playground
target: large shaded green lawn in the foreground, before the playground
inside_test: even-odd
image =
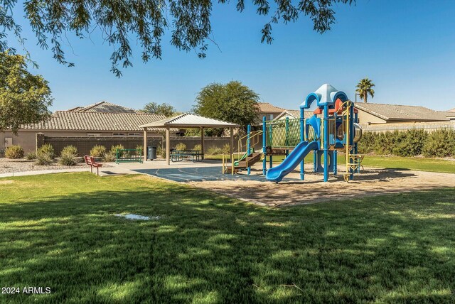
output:
[[[455,188],[281,209],[139,175],[0,189],[0,285],[51,288],[1,303],[455,302]]]

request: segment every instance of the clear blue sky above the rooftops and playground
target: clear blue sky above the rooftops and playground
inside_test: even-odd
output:
[[[215,5],[213,35],[207,58],[176,50],[163,41],[162,60],[141,63],[135,46],[134,67],[117,79],[111,72],[112,48],[94,34],[92,40],[68,35],[67,59],[59,65],[50,50],[41,50],[23,21],[23,36],[39,73],[50,82],[52,110],[107,100],[139,109],[147,102],[166,102],[179,111],[194,104],[196,93],[210,82],[240,80],[263,102],[297,109],[304,97],[331,83],[354,99],[363,77],[375,83],[370,102],[422,105],[437,110],[455,107],[455,1],[358,0],[336,6],[336,24],[323,35],[302,16],[287,26],[274,25],[272,45],[260,43],[269,19],[257,16],[247,2],[243,13],[235,1]],[[16,18],[23,15],[16,8]],[[10,38],[12,40],[12,38]],[[133,39],[135,44],[136,40]]]

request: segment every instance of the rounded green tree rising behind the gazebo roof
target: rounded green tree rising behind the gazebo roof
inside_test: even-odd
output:
[[[257,121],[258,101],[259,95],[241,82],[231,81],[225,85],[211,83],[198,93],[193,112],[245,127]],[[221,136],[223,129],[216,129],[211,133]]]

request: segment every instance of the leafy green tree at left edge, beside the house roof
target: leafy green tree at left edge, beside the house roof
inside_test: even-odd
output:
[[[23,56],[0,53],[0,131],[17,134],[21,124],[45,119],[52,100],[48,82],[28,72]]]

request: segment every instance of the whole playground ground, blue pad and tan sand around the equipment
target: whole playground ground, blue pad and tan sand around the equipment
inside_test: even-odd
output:
[[[280,183],[271,183],[262,173],[262,164],[252,168],[252,174],[222,174],[221,166],[216,162],[178,163],[171,166],[164,162],[144,164],[124,164],[119,166],[125,172],[145,173],[152,177],[186,183],[222,195],[235,197],[246,202],[270,207],[306,205],[333,200],[352,200],[375,195],[387,195],[403,192],[455,188],[455,174],[433,173],[404,169],[365,168],[356,174],[354,180],[343,180],[343,168],[338,175],[331,174],[328,183],[323,183],[321,173],[312,173],[313,164],[305,165],[305,180],[299,179],[299,170],[287,175]],[[153,168],[153,167],[154,168]],[[173,167],[174,166],[174,167]],[[151,168],[152,167],[152,168]],[[111,170],[112,168],[109,168]],[[116,170],[119,168],[116,168]]]

